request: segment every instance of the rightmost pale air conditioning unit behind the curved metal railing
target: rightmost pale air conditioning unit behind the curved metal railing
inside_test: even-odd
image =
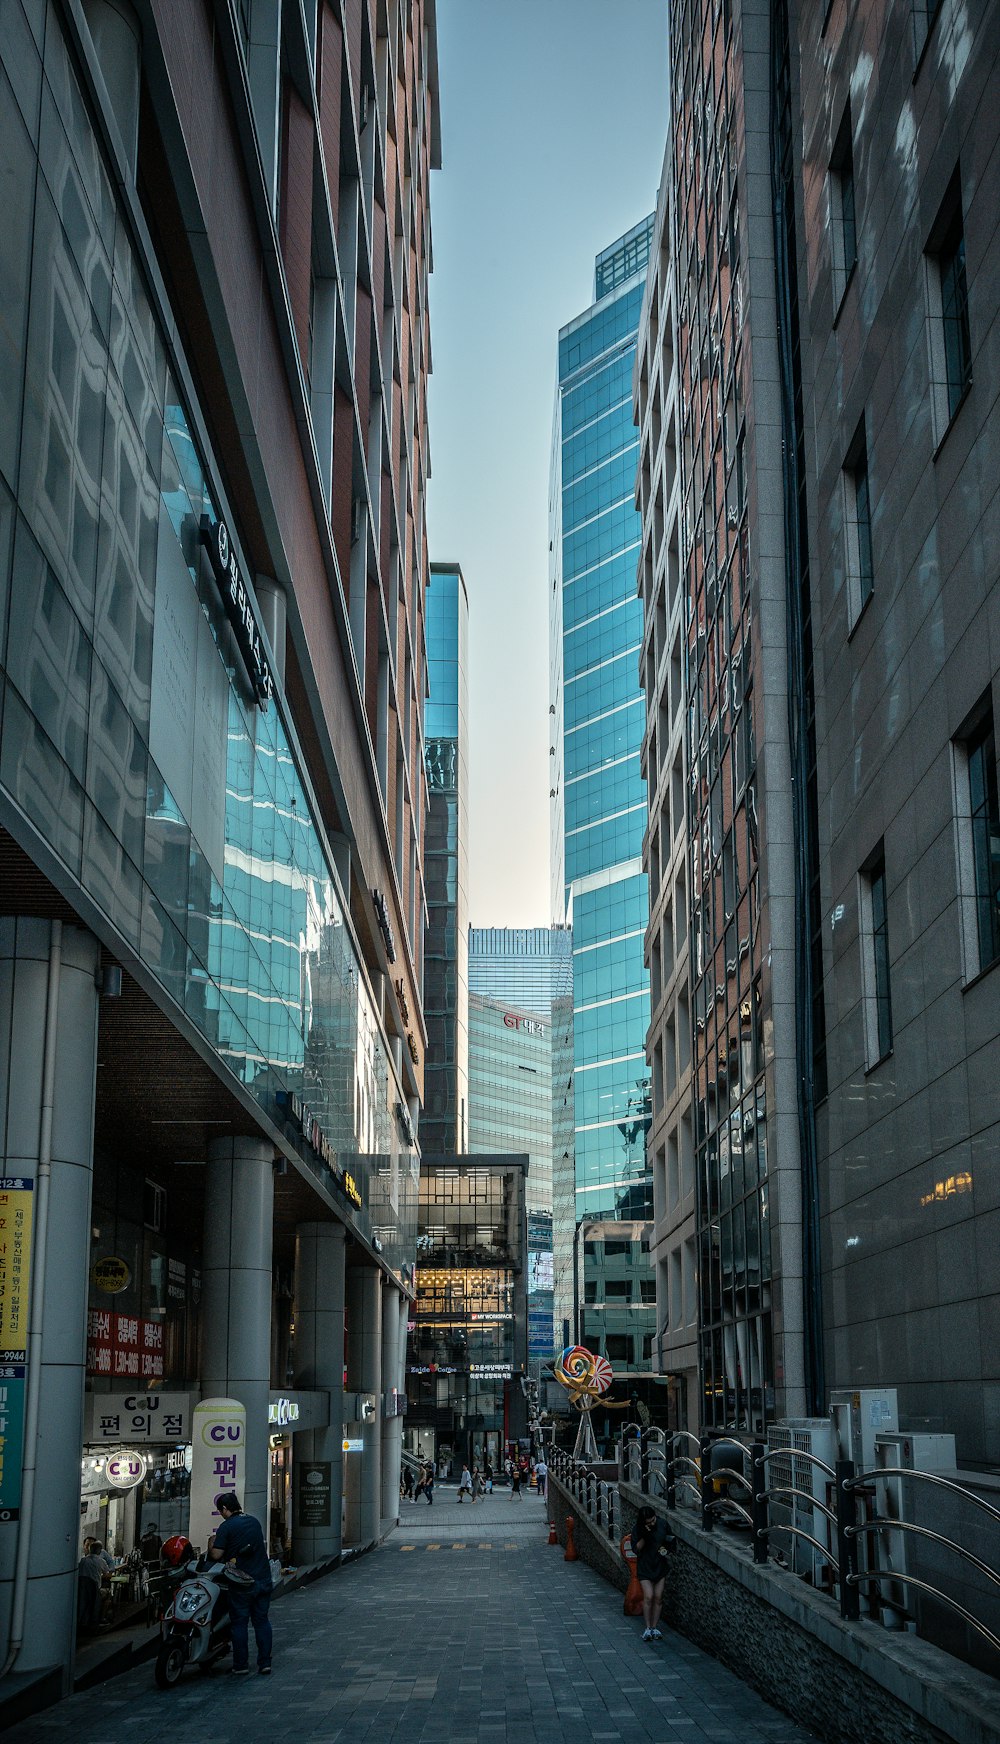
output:
[[[874,1437],[874,1467],[887,1472],[955,1472],[955,1435],[927,1435],[916,1434],[909,1435],[906,1430],[899,1430],[894,1435],[876,1435]],[[914,1496],[918,1486],[908,1484],[906,1477],[876,1477],[874,1481],[874,1509],[881,1519],[914,1519],[914,1502],[925,1500]],[[928,1486],[920,1486],[927,1489]],[[941,1491],[939,1491],[941,1495]],[[937,1509],[935,1509],[937,1512]],[[937,1529],[946,1536],[948,1526],[939,1521]],[[921,1552],[927,1559],[927,1545],[913,1533],[892,1531],[892,1528],[883,1526],[881,1531],[869,1535],[876,1540],[871,1547],[873,1563],[883,1571],[894,1571],[899,1575],[913,1575],[918,1580],[928,1580],[934,1584],[934,1573],[925,1566],[921,1570]],[[955,1536],[955,1533],[951,1533]],[[906,1580],[892,1582],[880,1580],[878,1594],[881,1599],[881,1624],[885,1629],[914,1629],[916,1611],[920,1608],[920,1589],[909,1587]]]

